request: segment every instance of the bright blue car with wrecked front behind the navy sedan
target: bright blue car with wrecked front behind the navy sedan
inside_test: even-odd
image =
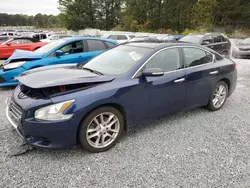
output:
[[[34,52],[16,50],[2,68],[0,66],[0,87],[17,85],[17,76],[27,70],[84,62],[116,45],[116,41],[109,39],[73,37],[49,43]]]

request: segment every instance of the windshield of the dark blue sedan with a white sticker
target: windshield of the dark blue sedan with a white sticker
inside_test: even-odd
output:
[[[83,68],[92,69],[105,75],[120,76],[127,73],[150,51],[149,48],[118,46],[95,57]]]

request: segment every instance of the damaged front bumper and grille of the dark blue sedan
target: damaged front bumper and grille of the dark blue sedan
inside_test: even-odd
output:
[[[20,93],[19,86],[14,93]],[[41,106],[48,101],[42,101]],[[6,100],[6,117],[25,144],[37,148],[57,149],[71,148],[76,145],[76,129],[72,120],[41,121],[33,117],[33,108],[27,110],[25,105],[32,105],[32,99],[21,99],[17,95]],[[37,103],[36,103],[37,104]],[[24,107],[24,108],[23,108]],[[25,110],[26,109],[26,110]],[[74,124],[73,124],[74,125]]]

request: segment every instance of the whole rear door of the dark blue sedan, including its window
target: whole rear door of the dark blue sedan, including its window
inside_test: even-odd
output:
[[[213,86],[218,80],[220,67],[209,52],[197,48],[183,48],[186,63],[187,108],[207,104]]]

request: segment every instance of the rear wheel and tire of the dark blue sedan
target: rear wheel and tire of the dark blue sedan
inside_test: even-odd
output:
[[[223,88],[223,91],[219,93],[220,89],[222,88]],[[214,86],[212,94],[210,96],[208,109],[212,111],[220,110],[224,106],[227,100],[227,97],[228,97],[228,85],[223,81],[218,82]],[[216,102],[216,99],[217,99],[217,102]]]

